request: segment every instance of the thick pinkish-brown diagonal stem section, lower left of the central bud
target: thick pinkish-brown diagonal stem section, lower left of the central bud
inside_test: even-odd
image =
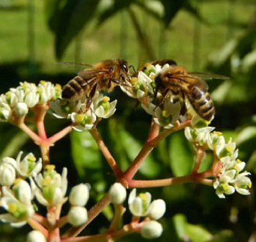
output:
[[[91,223],[94,218],[99,215],[99,213],[101,213],[102,210],[104,210],[104,208],[106,208],[107,205],[109,205],[109,203],[109,193],[106,193],[106,195],[104,195],[104,197],[102,197],[101,200],[99,200],[99,202],[88,211],[88,221],[78,228],[70,228],[64,233],[63,238],[76,237],[89,223]]]

